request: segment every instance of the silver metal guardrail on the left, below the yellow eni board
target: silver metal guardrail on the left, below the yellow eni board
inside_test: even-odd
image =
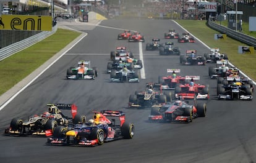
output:
[[[53,26],[53,30],[51,31],[42,31],[38,34],[30,36],[27,39],[23,39],[22,41],[15,42],[14,44],[0,49],[0,61],[4,60],[7,57],[10,57],[17,52],[20,52],[23,49],[26,49],[27,47],[32,46],[33,44],[36,44],[37,42],[47,38],[48,36],[51,36],[51,34],[54,34],[57,31],[57,29],[58,26],[55,25]]]

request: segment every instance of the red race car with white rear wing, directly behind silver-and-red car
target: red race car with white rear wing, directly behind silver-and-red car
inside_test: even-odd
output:
[[[186,84],[177,85],[175,88],[175,97],[182,97],[184,99],[198,99],[208,100],[209,87],[208,85],[195,84],[194,81],[198,81],[200,76],[186,76],[186,81],[190,81]]]

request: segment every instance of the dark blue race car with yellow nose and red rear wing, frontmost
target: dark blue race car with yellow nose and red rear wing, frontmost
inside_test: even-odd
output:
[[[103,110],[93,113],[93,119],[86,124],[75,125],[71,129],[57,127],[53,132],[53,137],[49,137],[47,143],[49,145],[96,146],[103,145],[107,141],[134,137],[134,124],[125,121],[126,117],[122,111]]]

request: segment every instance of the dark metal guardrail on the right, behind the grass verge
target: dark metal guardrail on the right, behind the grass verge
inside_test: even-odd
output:
[[[220,31],[223,34],[227,34],[231,38],[244,42],[249,46],[256,47],[256,38],[252,36],[237,32],[223,25],[218,25],[217,23],[211,22],[210,20],[208,20],[208,26],[210,26],[210,28],[213,28],[214,30]]]

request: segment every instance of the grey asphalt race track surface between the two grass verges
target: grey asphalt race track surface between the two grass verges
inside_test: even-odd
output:
[[[211,64],[183,66],[179,64],[179,56],[145,51],[145,44],[152,38],[168,41],[164,32],[174,28],[182,33],[182,28],[171,20],[104,20],[100,25],[90,30],[79,26],[77,30],[88,35],[1,110],[0,129],[4,132],[12,117],[43,113],[46,103],[75,103],[87,119],[94,110],[125,111],[126,121],[135,125],[134,138],[88,148],[47,146],[46,138],[2,135],[1,162],[256,162],[255,100],[218,101],[216,80],[208,78]],[[70,23],[69,27],[76,25]],[[117,40],[122,29],[140,31],[145,36],[142,50],[137,42]],[[180,47],[182,54],[187,49],[196,49],[198,54],[209,51],[199,41],[186,44],[171,41]],[[110,51],[116,46],[127,46],[137,58],[143,53],[145,79],[139,83],[109,82],[106,66]],[[90,60],[98,68],[98,78],[66,80],[67,68],[77,65],[79,60]],[[182,75],[200,75],[200,83],[210,85],[206,117],[194,119],[190,124],[150,123],[147,121],[150,109],[127,108],[129,95],[144,90],[147,82],[157,82],[167,68],[180,68]]]

